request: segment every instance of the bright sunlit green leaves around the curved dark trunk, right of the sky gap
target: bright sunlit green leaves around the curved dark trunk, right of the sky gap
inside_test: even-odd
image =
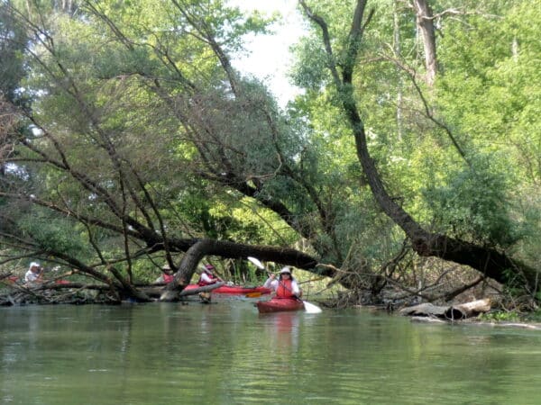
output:
[[[338,38],[331,35],[331,62],[340,72],[341,44],[349,29],[343,16],[352,13],[353,5],[308,4],[338,33]],[[420,78],[423,56],[415,14],[401,2],[368,4],[375,14],[364,32],[353,83],[371,156],[391,195],[421,223],[448,235],[509,247],[523,236],[516,193],[521,193],[520,184],[537,181],[536,156],[541,156],[535,118],[540,108],[535,67],[539,41],[532,31],[536,24],[524,18],[531,13],[535,20],[539,4],[430,5],[441,13],[436,21],[442,33],[437,37],[441,70],[436,89],[426,88]],[[297,105],[307,114],[313,139],[333,139],[335,144],[322,148],[333,153],[319,161],[340,156],[345,163],[353,146],[341,154],[338,145],[347,145],[344,139],[351,138],[351,131],[333,112],[339,99],[329,90],[329,60],[315,28],[295,49],[299,62],[294,78],[309,90]],[[452,131],[467,157],[457,153],[444,127],[427,112]],[[345,172],[337,158],[335,165]]]

